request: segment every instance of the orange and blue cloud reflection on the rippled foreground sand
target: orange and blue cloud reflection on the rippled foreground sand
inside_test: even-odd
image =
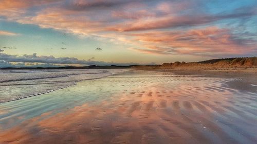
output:
[[[0,142],[256,142],[257,112],[252,101],[257,100],[256,95],[224,87],[227,81],[223,79],[186,79],[190,83],[173,88],[159,81],[132,90],[124,88],[122,95],[98,105],[85,103],[54,115],[44,113],[1,132]]]

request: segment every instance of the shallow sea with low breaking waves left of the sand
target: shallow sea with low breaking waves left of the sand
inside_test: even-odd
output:
[[[120,70],[111,70],[119,72]],[[122,71],[122,70],[121,70]],[[112,75],[108,70],[0,70],[0,102],[12,101]]]

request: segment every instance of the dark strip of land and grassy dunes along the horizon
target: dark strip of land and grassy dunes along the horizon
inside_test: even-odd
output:
[[[65,67],[7,67],[0,68],[2,70],[30,70],[30,69],[182,69],[182,70],[201,70],[201,69],[257,69],[257,57],[234,57],[234,58],[219,58],[210,59],[199,62],[184,61],[175,63],[164,63],[162,65],[131,65],[131,66],[65,66]]]

